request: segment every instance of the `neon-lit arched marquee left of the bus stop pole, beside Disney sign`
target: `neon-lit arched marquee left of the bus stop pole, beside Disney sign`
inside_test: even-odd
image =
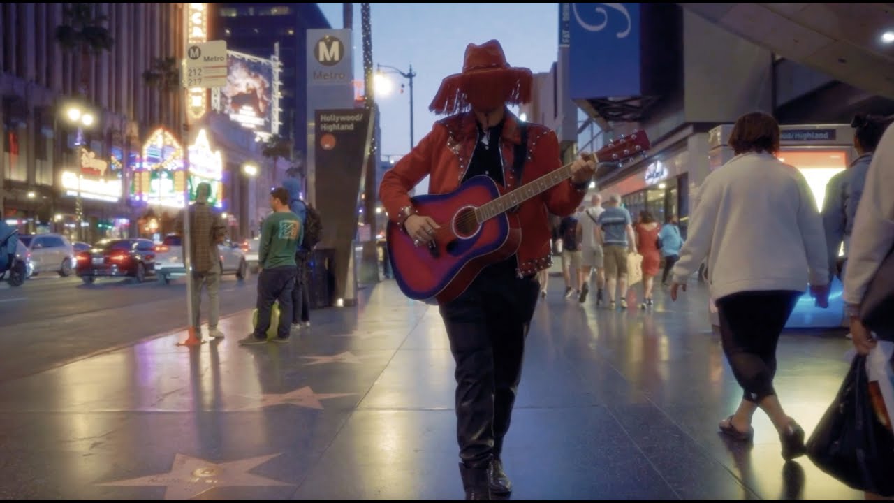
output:
[[[180,141],[159,128],[149,135],[141,154],[133,168],[131,199],[150,206],[183,208],[186,171]]]

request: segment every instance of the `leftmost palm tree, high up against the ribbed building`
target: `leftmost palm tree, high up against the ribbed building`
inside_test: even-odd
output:
[[[108,17],[99,13],[98,4],[71,4],[63,11],[64,24],[55,29],[55,41],[63,50],[80,51],[80,92],[87,96],[89,58],[114,46],[111,32],[103,24]]]

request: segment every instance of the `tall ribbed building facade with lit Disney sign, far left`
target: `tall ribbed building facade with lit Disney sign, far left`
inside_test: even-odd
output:
[[[156,58],[181,57],[183,4],[88,5],[106,18],[110,50],[85,55],[56,41],[72,4],[0,7],[0,205],[22,232],[133,234],[128,165],[149,130],[181,124],[180,101],[142,75]]]

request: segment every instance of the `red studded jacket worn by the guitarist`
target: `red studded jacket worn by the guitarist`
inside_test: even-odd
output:
[[[559,139],[555,132],[540,124],[526,124],[527,161],[522,171],[521,184],[528,183],[561,167]],[[460,187],[466,175],[477,142],[475,114],[451,115],[436,123],[432,132],[419,141],[409,155],[385,173],[379,187],[379,197],[388,216],[397,223],[406,217],[401,212],[411,206],[409,191],[430,175],[428,192],[443,194]],[[521,142],[518,119],[509,111],[504,119],[500,150],[503,161],[503,180],[506,189],[519,186],[512,175],[515,146]],[[522,237],[517,258],[519,275],[527,276],[552,265],[552,237],[547,209],[565,217],[580,206],[586,186],[578,188],[570,180],[559,183],[519,206]]]

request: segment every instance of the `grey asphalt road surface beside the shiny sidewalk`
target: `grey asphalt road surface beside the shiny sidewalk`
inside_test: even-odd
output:
[[[221,316],[254,307],[257,277],[224,276]],[[207,302],[207,301],[206,301]],[[105,349],[186,327],[186,281],[34,277],[0,282],[0,381],[72,362]],[[242,334],[227,334],[242,337]]]

